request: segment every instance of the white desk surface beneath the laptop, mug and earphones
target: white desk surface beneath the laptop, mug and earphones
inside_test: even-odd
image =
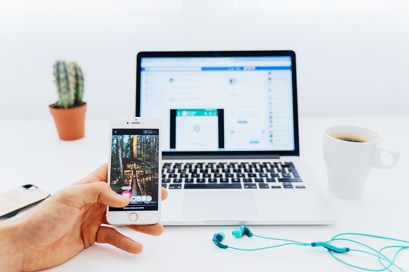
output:
[[[329,226],[252,226],[253,233],[303,242],[328,240],[341,232],[361,232],[409,240],[409,116],[344,116],[300,118],[300,153],[336,214]],[[322,153],[322,131],[335,125],[373,129],[383,144],[400,151],[401,159],[392,170],[374,168],[359,200],[337,199],[327,191]],[[44,120],[0,120],[0,191],[34,184],[55,193],[86,176],[108,159],[109,120],[86,120],[85,137],[61,141],[50,116]],[[389,159],[387,156],[386,159]],[[169,197],[172,191],[169,190]],[[164,203],[165,205],[165,203]],[[302,205],[302,203],[300,203]],[[285,207],[282,207],[285,209]],[[291,211],[288,211],[291,212]],[[358,271],[333,259],[323,248],[288,245],[256,252],[222,250],[212,243],[222,231],[223,241],[238,248],[272,244],[253,237],[236,239],[236,226],[172,226],[162,236],[152,237],[117,227],[144,244],[144,251],[132,255],[107,244],[95,244],[51,271]],[[379,245],[380,242],[370,242]],[[382,243],[383,244],[383,243]],[[351,246],[352,247],[352,246]],[[338,255],[339,256],[339,255]],[[339,256],[344,257],[344,256]],[[397,261],[409,270],[408,251]],[[375,257],[348,253],[346,260],[357,265],[380,268]]]

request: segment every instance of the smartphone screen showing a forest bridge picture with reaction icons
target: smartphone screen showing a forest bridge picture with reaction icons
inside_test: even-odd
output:
[[[112,129],[110,187],[130,203],[109,211],[158,210],[158,129]]]

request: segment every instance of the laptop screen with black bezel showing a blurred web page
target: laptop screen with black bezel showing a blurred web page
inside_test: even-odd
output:
[[[136,116],[162,121],[164,155],[298,155],[292,51],[141,52]]]

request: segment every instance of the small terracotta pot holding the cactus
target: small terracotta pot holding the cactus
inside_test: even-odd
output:
[[[82,106],[60,109],[50,105],[58,137],[61,140],[76,140],[84,137],[86,103]]]

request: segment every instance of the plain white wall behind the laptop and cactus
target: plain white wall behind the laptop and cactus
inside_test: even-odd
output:
[[[392,0],[0,1],[0,118],[51,118],[56,59],[87,117],[134,115],[139,51],[293,50],[300,115],[408,114],[409,4]]]

